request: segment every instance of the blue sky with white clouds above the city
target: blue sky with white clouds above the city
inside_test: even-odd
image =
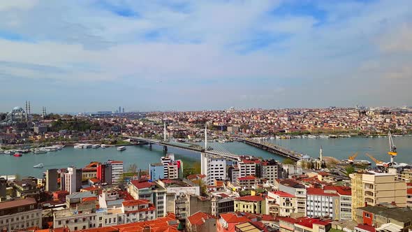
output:
[[[0,112],[412,106],[410,0],[2,0]]]

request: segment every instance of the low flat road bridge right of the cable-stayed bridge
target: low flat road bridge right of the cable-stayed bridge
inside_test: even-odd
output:
[[[267,152],[271,152],[271,153],[280,155],[281,157],[292,159],[294,161],[298,161],[302,157],[302,154],[294,152],[293,150],[288,150],[284,147],[281,147],[279,145],[275,145],[273,143],[261,142],[261,141],[253,140],[253,139],[250,139],[250,138],[242,138],[239,141],[243,142],[243,143],[246,143],[248,145],[252,145],[253,147],[258,147],[262,150],[266,150]]]

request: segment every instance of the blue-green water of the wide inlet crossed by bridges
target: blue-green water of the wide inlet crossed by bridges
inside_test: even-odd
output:
[[[395,161],[398,163],[412,163],[412,136],[394,138],[397,145],[398,156]],[[347,159],[354,152],[359,152],[356,159],[369,159],[365,152],[374,155],[376,159],[389,161],[388,138],[329,138],[329,139],[310,139],[295,138],[290,140],[267,140],[270,143],[277,143],[290,150],[295,150],[311,157],[318,157],[319,148],[323,147],[323,156],[335,157],[337,159]],[[248,154],[264,159],[274,158],[279,161],[283,160],[270,152],[258,150],[256,147],[244,143],[221,143],[226,150],[234,154]],[[153,145],[152,150],[146,145],[128,146],[126,150],[119,152],[115,147],[106,149],[74,149],[65,147],[57,152],[47,154],[23,154],[23,157],[13,157],[8,154],[0,154],[0,175],[20,176],[32,175],[42,177],[43,172],[49,168],[66,168],[67,166],[76,166],[82,168],[89,164],[90,161],[108,161],[108,159],[124,161],[124,168],[127,169],[131,164],[136,164],[138,168],[144,170],[149,168],[151,163],[159,163],[163,154],[163,147]],[[182,159],[184,166],[191,166],[196,161],[200,161],[200,154],[185,150],[178,150],[172,147],[168,149],[169,153],[174,153],[177,159]],[[36,164],[44,164],[44,168],[33,168]]]

